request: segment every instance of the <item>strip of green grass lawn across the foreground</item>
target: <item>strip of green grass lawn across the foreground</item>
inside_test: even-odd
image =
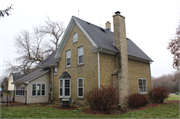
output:
[[[178,118],[179,104],[172,103],[116,115],[91,115],[52,107],[1,107],[1,118]]]

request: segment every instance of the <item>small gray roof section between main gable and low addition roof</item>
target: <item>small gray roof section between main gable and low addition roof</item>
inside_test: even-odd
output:
[[[51,65],[57,65],[59,62],[59,59],[55,59],[54,56],[56,54],[56,51],[53,51],[44,61],[41,62],[40,66],[41,67],[49,67]]]

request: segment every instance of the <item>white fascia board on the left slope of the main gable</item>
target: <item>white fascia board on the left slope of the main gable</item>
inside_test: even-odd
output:
[[[64,36],[61,39],[61,43],[58,46],[58,50],[57,50],[56,55],[54,57],[55,59],[61,58],[61,53],[62,53],[62,51],[64,49],[64,46],[65,46],[65,44],[66,44],[66,42],[67,42],[67,40],[69,38],[69,35],[71,34],[71,31],[72,31],[74,25],[75,25],[75,21],[74,21],[74,19],[72,17],[69,24],[68,24],[68,27],[67,27],[67,29],[66,29],[66,31],[64,33]]]

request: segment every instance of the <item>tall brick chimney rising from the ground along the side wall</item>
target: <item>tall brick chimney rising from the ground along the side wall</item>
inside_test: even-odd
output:
[[[126,104],[126,96],[129,95],[129,75],[128,75],[128,55],[127,55],[127,39],[125,29],[125,17],[120,15],[120,12],[115,12],[113,15],[114,24],[114,43],[119,50],[117,54],[118,72],[118,89],[120,105]]]

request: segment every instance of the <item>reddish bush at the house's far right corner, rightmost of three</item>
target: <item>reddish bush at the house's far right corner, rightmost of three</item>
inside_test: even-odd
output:
[[[149,92],[149,99],[151,102],[163,102],[169,96],[169,91],[164,86],[154,87]]]

